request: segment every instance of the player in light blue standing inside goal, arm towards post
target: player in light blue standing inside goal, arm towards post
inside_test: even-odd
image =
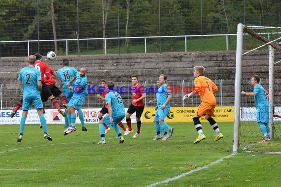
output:
[[[257,75],[251,77],[251,85],[254,85],[253,92],[244,92],[241,94],[254,96],[257,110],[257,124],[260,127],[263,138],[262,142],[270,141],[270,127],[268,125],[269,103],[264,88],[259,84],[260,78]]]

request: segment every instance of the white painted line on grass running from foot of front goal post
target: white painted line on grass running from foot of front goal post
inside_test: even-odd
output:
[[[195,173],[195,172],[200,171],[200,170],[203,170],[203,169],[207,169],[208,167],[210,167],[210,166],[212,166],[212,165],[214,165],[214,164],[217,164],[217,163],[219,163],[219,162],[222,162],[223,159],[229,158],[230,156],[233,156],[233,155],[235,155],[235,154],[230,154],[230,155],[228,155],[228,156],[223,156],[223,157],[221,157],[221,158],[215,160],[214,162],[211,162],[211,163],[208,164],[208,165],[205,165],[205,166],[203,166],[203,167],[198,167],[198,168],[196,168],[196,169],[194,169],[194,170],[191,170],[191,171],[189,171],[189,172],[182,173],[182,174],[180,174],[180,175],[178,175],[178,176],[176,176],[176,177],[173,177],[173,178],[168,178],[168,179],[166,179],[166,180],[164,180],[164,181],[160,181],[160,182],[153,183],[153,184],[148,185],[148,186],[146,186],[146,187],[155,187],[155,186],[160,185],[160,184],[163,184],[163,183],[169,183],[169,182],[171,182],[171,181],[175,181],[175,180],[180,179],[180,178],[182,178],[182,177],[184,177],[184,176],[186,176],[186,175]]]

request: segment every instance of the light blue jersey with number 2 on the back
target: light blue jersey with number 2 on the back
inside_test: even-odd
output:
[[[23,85],[23,97],[28,95],[40,95],[37,81],[41,80],[41,72],[35,67],[24,67],[20,70],[19,81]]]

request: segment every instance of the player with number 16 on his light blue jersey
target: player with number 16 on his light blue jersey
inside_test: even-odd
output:
[[[78,71],[74,68],[74,67],[70,67],[70,62],[68,59],[63,59],[63,67],[60,68],[58,70],[58,78],[59,78],[59,82],[60,85],[63,87],[63,94],[67,97],[67,101],[69,102],[72,95],[73,95],[73,90],[70,90],[67,87],[67,83],[76,76],[76,74],[78,73]],[[70,86],[74,86],[74,82],[72,81],[70,83]],[[65,108],[67,108],[68,106],[66,104],[63,104]],[[67,111],[66,111],[67,113]],[[78,116],[82,125],[82,130],[83,131],[87,131],[87,128],[85,126],[85,122],[84,122],[84,116],[83,116],[83,112],[82,109],[80,108],[78,110]],[[65,127],[66,129],[70,126],[70,122],[68,121],[68,117],[65,117]]]

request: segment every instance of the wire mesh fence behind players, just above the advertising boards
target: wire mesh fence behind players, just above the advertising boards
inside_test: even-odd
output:
[[[234,83],[232,79],[219,79],[213,80],[217,85],[219,92],[215,94],[217,99],[217,106],[233,106],[234,105]],[[149,100],[156,98],[157,92],[157,80],[145,80],[140,82],[140,84],[145,87],[146,98],[144,99],[145,107],[154,107],[155,103],[149,103]],[[171,106],[198,106],[201,103],[200,97],[194,95],[192,98],[185,99],[182,101],[183,95],[190,92],[190,89],[193,89],[194,81],[193,80],[174,80],[167,81],[168,85],[172,86],[172,99]],[[99,83],[90,82],[88,83],[89,87],[94,87],[94,91],[91,90],[86,96],[84,102],[84,108],[101,108],[103,107],[103,102],[101,99],[97,98],[97,93],[99,93]],[[58,85],[57,85],[58,86]],[[129,87],[132,86],[131,81],[126,82],[115,82],[115,90],[118,88],[119,93],[123,98],[125,107],[129,107],[132,102],[132,94],[130,93]],[[123,88],[122,88],[123,87]],[[128,93],[126,93],[128,92]],[[100,93],[102,94],[102,93]],[[11,84],[1,84],[0,85],[0,102],[1,109],[13,109],[17,101],[22,98],[22,93],[20,91],[19,85]],[[46,102],[46,109],[53,108],[52,103]]]

